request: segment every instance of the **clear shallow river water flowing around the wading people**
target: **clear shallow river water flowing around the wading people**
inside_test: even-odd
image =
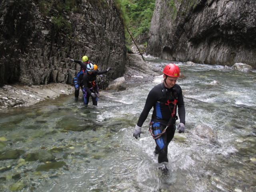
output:
[[[0,110],[0,150],[18,153],[0,160],[0,191],[256,191],[256,72],[175,64],[186,76],[177,81],[186,131],[176,132],[169,145],[167,174],[153,154],[152,111],[141,137],[132,136],[148,92],[160,82],[156,78],[124,91],[102,90],[97,107],[91,100],[83,106],[80,93],[80,102],[70,95]],[[217,144],[191,134],[199,124],[214,130]]]

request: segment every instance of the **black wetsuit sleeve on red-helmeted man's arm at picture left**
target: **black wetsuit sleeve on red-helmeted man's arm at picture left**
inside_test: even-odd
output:
[[[152,109],[152,107],[154,106],[154,104],[157,102],[157,93],[155,91],[156,89],[153,88],[149,94],[148,97],[146,99],[146,103],[144,106],[144,109],[142,110],[139,120],[137,122],[137,125],[139,127],[141,127],[144,123],[144,121],[146,120],[146,118],[148,117],[148,113],[150,112],[150,110]]]

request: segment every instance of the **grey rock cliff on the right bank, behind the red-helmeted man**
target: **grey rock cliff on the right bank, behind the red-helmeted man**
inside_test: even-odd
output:
[[[146,54],[256,68],[256,1],[156,0]]]

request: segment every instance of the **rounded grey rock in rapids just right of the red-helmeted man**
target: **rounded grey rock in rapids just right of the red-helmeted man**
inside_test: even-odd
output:
[[[192,133],[192,135],[198,136],[199,138],[204,139],[204,140],[208,140],[209,142],[218,143],[217,134],[214,132],[214,130],[212,130],[212,128],[210,128],[207,125],[200,124],[200,125],[196,126],[191,131],[191,133]]]

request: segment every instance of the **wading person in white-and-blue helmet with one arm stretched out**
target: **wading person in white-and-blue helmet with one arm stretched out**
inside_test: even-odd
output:
[[[94,70],[94,66],[92,63],[87,64],[86,66],[87,72],[83,76],[83,98],[84,98],[84,104],[88,105],[89,98],[92,96],[92,104],[97,105],[98,103],[98,86],[96,82],[97,75],[104,74],[111,70],[111,68],[108,68],[104,71],[96,71]]]

